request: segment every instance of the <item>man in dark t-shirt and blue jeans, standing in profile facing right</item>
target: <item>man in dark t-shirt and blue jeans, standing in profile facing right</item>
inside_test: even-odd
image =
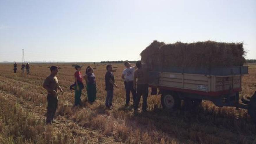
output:
[[[105,74],[105,90],[107,91],[106,102],[105,105],[108,109],[112,109],[112,99],[114,95],[114,86],[118,88],[115,84],[115,78],[112,71],[112,65],[106,66],[106,74]]]

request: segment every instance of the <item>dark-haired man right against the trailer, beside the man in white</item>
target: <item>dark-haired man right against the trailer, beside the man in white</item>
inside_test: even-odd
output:
[[[137,89],[137,100],[134,105],[134,113],[137,113],[138,111],[141,95],[143,98],[142,111],[146,112],[148,96],[148,71],[142,67],[141,61],[137,61],[136,66],[138,67],[138,69],[134,71],[133,77],[133,87],[134,89]]]

